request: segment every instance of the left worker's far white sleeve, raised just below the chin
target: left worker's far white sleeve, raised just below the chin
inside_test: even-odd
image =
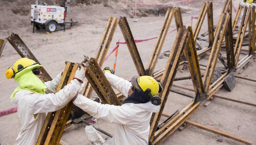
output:
[[[61,72],[51,81],[45,82],[45,86],[47,87],[45,93],[56,93],[57,87],[60,83]]]

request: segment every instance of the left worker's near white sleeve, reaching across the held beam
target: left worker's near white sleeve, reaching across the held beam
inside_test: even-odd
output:
[[[63,108],[78,93],[81,83],[72,80],[67,86],[57,93],[35,94],[33,97],[32,112],[34,114],[43,112],[53,112]]]

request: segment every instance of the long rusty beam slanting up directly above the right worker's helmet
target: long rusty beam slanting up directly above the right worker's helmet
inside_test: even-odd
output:
[[[154,45],[154,49],[151,54],[151,59],[149,60],[149,63],[147,66],[147,69],[149,69],[149,72],[147,75],[149,76],[152,76],[152,74],[154,73],[154,68],[156,66],[159,54],[162,50],[163,43],[166,40],[166,35],[168,33],[169,26],[172,22],[173,16],[174,16],[174,9],[171,10],[171,8],[168,7],[164,22],[162,24],[162,29],[158,35],[157,41]]]

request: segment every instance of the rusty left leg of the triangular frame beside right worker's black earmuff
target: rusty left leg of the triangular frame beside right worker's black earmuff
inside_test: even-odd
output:
[[[163,87],[165,88],[161,93],[162,104],[160,105],[160,110],[157,113],[153,113],[151,117],[151,128],[149,133],[149,141],[152,142],[154,139],[154,133],[157,130],[159,120],[161,118],[161,114],[165,107],[169,91],[171,89],[174,77],[177,72],[178,64],[181,61],[181,54],[186,47],[186,43],[188,40],[188,30],[187,29],[179,29],[176,39],[173,43],[173,48],[171,54],[169,55],[168,61],[166,63],[166,67],[161,79]]]

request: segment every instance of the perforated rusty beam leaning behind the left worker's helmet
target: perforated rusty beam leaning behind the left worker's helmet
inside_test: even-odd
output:
[[[38,59],[34,56],[34,54],[29,50],[23,40],[19,37],[19,35],[12,33],[11,36],[6,38],[11,46],[19,53],[22,58],[29,58],[34,60],[35,62],[39,63]],[[41,72],[43,79],[45,81],[53,80],[51,76],[46,72],[46,70],[41,67]]]

